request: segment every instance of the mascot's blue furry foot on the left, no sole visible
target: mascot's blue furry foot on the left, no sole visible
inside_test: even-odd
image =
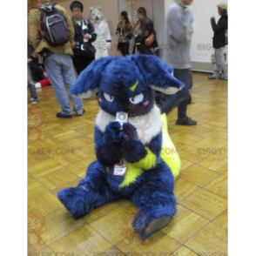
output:
[[[82,187],[65,188],[57,192],[57,198],[62,202],[67,211],[71,212],[72,218],[77,220],[88,213],[86,210],[86,193]]]

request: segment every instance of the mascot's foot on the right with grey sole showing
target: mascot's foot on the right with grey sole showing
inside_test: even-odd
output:
[[[132,222],[132,226],[136,232],[140,234],[142,239],[148,239],[154,232],[158,232],[172,221],[171,216],[161,217],[159,219],[150,220],[142,211],[138,211]]]

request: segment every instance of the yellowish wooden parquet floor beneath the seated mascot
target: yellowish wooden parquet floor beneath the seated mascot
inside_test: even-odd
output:
[[[74,221],[57,199],[57,191],[77,185],[96,158],[97,100],[84,100],[83,117],[57,119],[51,86],[37,89],[36,110],[27,91],[28,114],[37,114],[27,137],[27,255],[228,255],[228,82],[207,76],[193,74],[188,116],[199,125],[175,125],[177,110],[168,116],[182,159],[175,189],[178,213],[144,241],[131,229],[137,209],[130,201],[104,205]]]

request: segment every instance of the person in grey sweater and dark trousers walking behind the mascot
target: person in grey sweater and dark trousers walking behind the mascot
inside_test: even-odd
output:
[[[164,51],[163,59],[174,69],[173,75],[185,86],[169,98],[160,99],[162,113],[168,114],[178,106],[178,119],[176,125],[197,125],[198,122],[186,115],[189,102],[190,70],[192,68],[190,48],[192,39],[192,12],[188,5],[192,0],[176,0],[170,6],[167,13],[166,45],[170,50]]]

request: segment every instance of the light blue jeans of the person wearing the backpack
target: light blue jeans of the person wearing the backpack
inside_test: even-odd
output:
[[[64,87],[65,83],[68,90],[70,90],[77,80],[71,55],[53,53],[51,56],[45,57],[44,67],[51,80],[57,103],[62,109],[62,114],[71,115],[70,99]],[[83,114],[83,100],[72,96],[70,98],[74,105],[73,111],[79,115]]]

